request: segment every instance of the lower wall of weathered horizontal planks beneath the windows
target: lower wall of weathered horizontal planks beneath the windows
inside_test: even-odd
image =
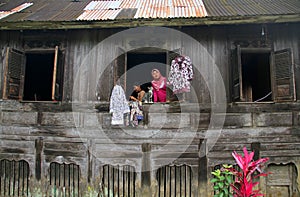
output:
[[[101,169],[113,163],[135,168],[135,189],[141,196],[141,192],[157,192],[158,179],[156,170],[149,174],[139,171],[174,160],[172,165],[191,167],[192,196],[210,196],[211,170],[233,163],[231,152],[243,146],[256,150],[260,157],[270,157],[270,164],[291,163],[299,169],[300,110],[296,103],[229,105],[224,128],[211,149],[204,145],[210,117],[207,106],[197,111],[195,104],[181,109],[164,105],[167,114],[145,106],[147,128],[130,129],[111,126],[107,106],[97,112],[93,104],[78,105],[73,111],[70,104],[4,101],[1,105],[0,159],[27,161],[31,189],[42,187],[39,183],[50,188],[51,162],[79,165],[80,191],[86,191],[88,184],[97,189]],[[158,129],[158,124],[163,124],[162,128]],[[193,140],[185,141],[191,132],[195,132]],[[266,191],[264,185],[261,188]]]

